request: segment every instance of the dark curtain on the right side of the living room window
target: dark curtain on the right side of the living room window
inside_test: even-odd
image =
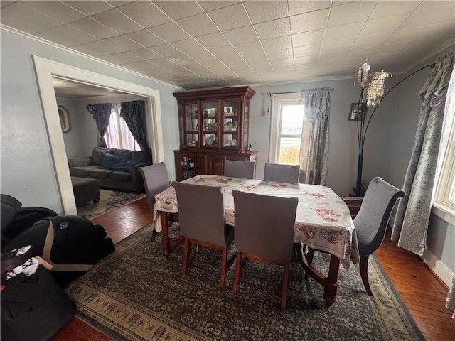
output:
[[[129,131],[131,131],[137,144],[141,147],[141,151],[149,149],[142,114],[145,112],[144,109],[144,101],[132,101],[122,102],[122,110],[120,111],[120,117],[127,123]]]

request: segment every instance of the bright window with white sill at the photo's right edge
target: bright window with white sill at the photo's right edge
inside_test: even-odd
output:
[[[455,225],[455,72],[451,75],[446,97],[444,130],[437,166],[437,188],[432,212]],[[439,173],[440,172],[440,173]],[[439,175],[439,176],[438,176]]]

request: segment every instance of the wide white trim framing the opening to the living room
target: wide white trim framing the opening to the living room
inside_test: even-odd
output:
[[[71,185],[70,171],[66,156],[65,143],[58,117],[57,99],[52,82],[52,77],[67,77],[78,82],[88,82],[95,86],[107,87],[127,93],[148,97],[146,101],[146,126],[147,137],[151,144],[154,163],[164,161],[163,129],[161,124],[161,104],[159,90],[143,87],[116,78],[100,75],[95,72],[82,70],[77,67],[58,63],[53,60],[33,55],[36,70],[38,90],[41,95],[45,124],[48,130],[50,151],[53,156],[55,177],[57,180],[63,213],[77,215],[73,186]]]

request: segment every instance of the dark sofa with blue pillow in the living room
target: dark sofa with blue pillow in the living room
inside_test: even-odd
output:
[[[139,167],[151,165],[151,151],[95,147],[92,156],[68,160],[70,174],[100,180],[102,188],[141,192],[144,181]]]

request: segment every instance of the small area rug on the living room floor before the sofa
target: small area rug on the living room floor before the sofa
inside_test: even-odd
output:
[[[141,193],[117,192],[114,190],[100,190],[100,195],[100,202],[95,204],[90,201],[81,207],[77,207],[77,215],[86,217],[87,219],[95,218],[110,210],[145,197],[145,194]]]

